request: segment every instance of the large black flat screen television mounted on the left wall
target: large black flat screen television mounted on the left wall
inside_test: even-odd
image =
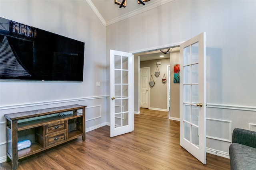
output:
[[[0,80],[83,81],[84,42],[0,18]]]

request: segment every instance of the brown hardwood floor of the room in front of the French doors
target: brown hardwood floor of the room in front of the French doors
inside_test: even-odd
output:
[[[0,169],[11,169],[6,162]],[[21,160],[18,170],[229,170],[227,158],[207,154],[204,165],[179,145],[179,122],[134,115],[134,131],[109,137],[104,126]]]

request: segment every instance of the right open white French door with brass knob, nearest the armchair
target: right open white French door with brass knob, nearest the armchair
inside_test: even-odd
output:
[[[205,32],[180,45],[180,145],[206,164]]]

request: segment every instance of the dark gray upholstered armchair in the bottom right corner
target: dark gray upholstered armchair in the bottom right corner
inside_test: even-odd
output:
[[[234,129],[229,156],[231,170],[256,170],[256,132]]]

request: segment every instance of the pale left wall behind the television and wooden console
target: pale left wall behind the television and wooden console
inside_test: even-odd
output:
[[[0,81],[0,162],[6,158],[6,113],[82,104],[87,106],[86,120],[91,119],[86,131],[106,125],[106,27],[88,3],[0,0],[0,17],[85,42],[83,82]]]

